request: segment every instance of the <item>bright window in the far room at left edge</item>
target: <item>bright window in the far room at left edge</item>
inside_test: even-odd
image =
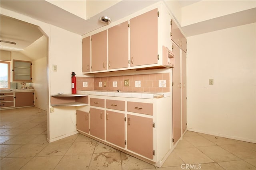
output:
[[[10,89],[9,61],[0,61],[0,89]]]

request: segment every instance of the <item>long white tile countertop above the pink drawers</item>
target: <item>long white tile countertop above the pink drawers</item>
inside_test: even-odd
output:
[[[165,93],[148,93],[148,92],[116,92],[116,91],[104,91],[104,90],[77,90],[78,94],[98,95],[98,96],[114,96],[124,98],[166,98],[171,96],[170,92]]]

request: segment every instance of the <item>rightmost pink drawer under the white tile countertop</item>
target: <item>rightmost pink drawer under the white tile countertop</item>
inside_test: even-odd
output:
[[[153,115],[152,103],[127,102],[127,111]]]

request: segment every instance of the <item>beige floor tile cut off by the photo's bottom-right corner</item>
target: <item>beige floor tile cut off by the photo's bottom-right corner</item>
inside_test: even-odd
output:
[[[228,162],[217,162],[225,170],[256,170],[256,167],[250,165],[244,160],[234,160]]]

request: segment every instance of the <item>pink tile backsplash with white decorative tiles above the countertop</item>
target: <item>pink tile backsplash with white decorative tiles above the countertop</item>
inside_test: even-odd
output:
[[[124,86],[129,80],[130,86]],[[87,82],[87,87],[83,87]],[[123,92],[170,92],[170,73],[110,77],[76,77],[76,90],[107,90]]]

